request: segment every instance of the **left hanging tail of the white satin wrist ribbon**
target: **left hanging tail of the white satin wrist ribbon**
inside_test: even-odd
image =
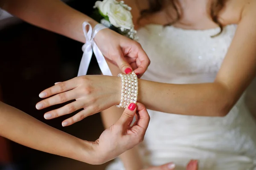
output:
[[[84,50],[84,54],[83,54],[81,62],[80,62],[78,76],[87,74],[92,55],[93,55],[93,49],[91,49],[91,47],[87,47]]]

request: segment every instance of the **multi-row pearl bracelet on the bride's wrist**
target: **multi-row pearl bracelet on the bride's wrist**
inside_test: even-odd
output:
[[[137,75],[132,72],[129,75],[119,74],[122,80],[122,93],[120,103],[116,105],[119,108],[126,108],[130,103],[137,103],[138,97],[138,78]]]

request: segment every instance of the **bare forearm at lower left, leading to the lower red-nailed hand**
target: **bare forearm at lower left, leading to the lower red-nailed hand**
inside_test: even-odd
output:
[[[59,156],[90,162],[90,143],[38,121],[0,102],[0,135],[19,144]]]

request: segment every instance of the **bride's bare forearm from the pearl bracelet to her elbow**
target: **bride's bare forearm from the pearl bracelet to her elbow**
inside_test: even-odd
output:
[[[164,84],[139,80],[138,101],[148,109],[181,115],[224,116],[234,99],[219,83]]]

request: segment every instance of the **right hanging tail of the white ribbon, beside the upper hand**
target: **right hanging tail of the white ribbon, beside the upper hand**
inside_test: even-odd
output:
[[[93,43],[93,52],[103,75],[112,76],[108,63],[96,43]]]

